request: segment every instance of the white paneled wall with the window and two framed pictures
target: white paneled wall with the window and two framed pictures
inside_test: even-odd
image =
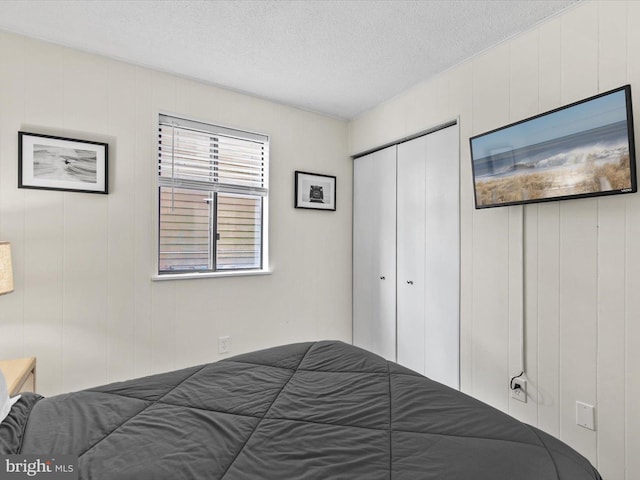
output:
[[[271,135],[265,276],[153,282],[160,111]],[[109,142],[110,193],[17,188],[18,130]],[[293,208],[294,170],[336,175],[337,212]],[[276,344],[351,340],[344,121],[0,32],[0,358],[35,355],[50,395]]]

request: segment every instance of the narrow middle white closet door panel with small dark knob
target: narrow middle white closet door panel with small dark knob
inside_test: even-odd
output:
[[[398,145],[398,363],[424,373],[426,137]]]

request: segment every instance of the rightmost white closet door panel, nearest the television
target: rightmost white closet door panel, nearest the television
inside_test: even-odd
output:
[[[458,126],[427,135],[425,372],[460,388]]]

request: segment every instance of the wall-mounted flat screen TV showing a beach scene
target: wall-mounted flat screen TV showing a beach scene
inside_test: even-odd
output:
[[[471,137],[476,208],[637,191],[629,85]]]

